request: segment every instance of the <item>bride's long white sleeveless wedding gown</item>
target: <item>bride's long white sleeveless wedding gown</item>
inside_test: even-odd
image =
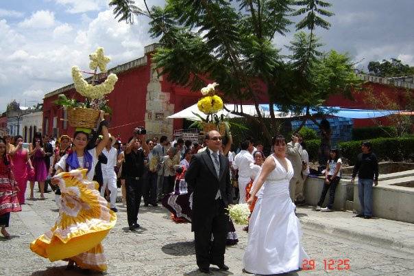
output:
[[[295,205],[289,197],[292,164],[286,159],[286,171],[278,159],[271,156],[276,168],[267,176],[258,193],[243,257],[245,270],[260,275],[296,271],[308,258],[301,243],[302,231],[295,216]]]

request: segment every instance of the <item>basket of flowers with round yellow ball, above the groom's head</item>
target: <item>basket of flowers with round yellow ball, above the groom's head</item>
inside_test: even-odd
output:
[[[229,125],[225,121],[223,114],[221,116],[217,115],[217,112],[223,109],[223,100],[221,100],[219,95],[215,95],[215,87],[218,85],[216,82],[213,82],[208,84],[207,87],[202,88],[201,92],[204,97],[197,102],[197,107],[207,117],[204,118],[193,112],[202,122],[194,122],[191,126],[199,126],[205,133],[208,133],[210,130],[218,130],[221,135],[225,135]]]

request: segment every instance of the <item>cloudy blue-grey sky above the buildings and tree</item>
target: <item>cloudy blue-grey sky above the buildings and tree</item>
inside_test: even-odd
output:
[[[88,71],[88,55],[103,47],[108,68],[143,56],[148,19],[114,19],[109,0],[0,0],[0,111],[11,100],[42,102],[72,82],[71,67]],[[164,0],[149,0],[164,5]],[[398,58],[414,66],[413,0],[331,0],[330,30],[317,30],[322,49],[348,52],[360,69],[371,60]],[[142,0],[136,0],[143,7]],[[299,19],[293,18],[294,21]],[[294,34],[276,36],[278,47]],[[284,50],[282,51],[282,53]]]

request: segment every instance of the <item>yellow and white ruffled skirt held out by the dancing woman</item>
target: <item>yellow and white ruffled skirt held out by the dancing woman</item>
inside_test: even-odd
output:
[[[73,260],[81,268],[106,271],[101,241],[117,222],[116,214],[86,179],[87,170],[72,170],[54,176],[59,180],[62,207],[55,225],[30,244],[30,249],[51,262]]]

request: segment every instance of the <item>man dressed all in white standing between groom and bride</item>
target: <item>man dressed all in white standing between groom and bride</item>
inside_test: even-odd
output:
[[[234,157],[233,168],[239,170],[239,204],[246,203],[246,186],[250,182],[250,163],[254,163],[253,144],[249,140],[241,142],[241,151]]]

